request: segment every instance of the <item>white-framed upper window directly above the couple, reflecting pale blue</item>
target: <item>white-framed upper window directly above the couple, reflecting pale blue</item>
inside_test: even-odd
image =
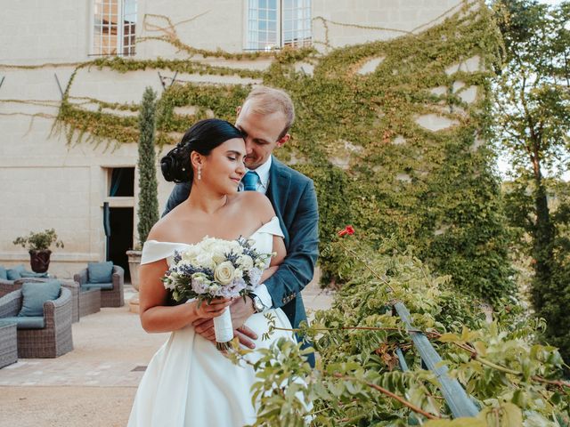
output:
[[[311,0],[248,0],[248,50],[309,44]]]

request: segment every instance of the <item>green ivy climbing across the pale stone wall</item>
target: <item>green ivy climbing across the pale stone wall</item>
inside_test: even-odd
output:
[[[173,44],[191,55],[244,58],[184,47],[171,22],[161,29],[163,36],[147,39]],[[402,247],[416,246],[422,259],[440,273],[451,274],[460,289],[494,301],[513,285],[499,181],[490,166],[493,152],[479,141],[485,141],[489,132],[489,70],[500,58],[501,46],[485,4],[465,2],[451,17],[419,34],[327,53],[284,49],[272,53],[273,62],[266,70],[216,67],[191,59],[105,58],[78,65],[76,74],[85,67],[118,72],[159,68],[256,78],[286,90],[295,102],[297,121],[292,141],[276,155],[314,179],[321,212],[323,279],[335,278],[342,262],[328,250],[330,237],[352,222],[367,230],[372,244],[393,236]],[[481,67],[467,70],[465,61],[474,57]],[[360,74],[362,65],[375,58],[381,58],[378,67]],[[297,70],[300,61],[312,64],[313,74]],[[69,95],[72,84],[73,78],[57,121],[69,141],[83,137],[137,141],[137,118],[108,112],[134,106],[89,100],[99,109],[87,111],[81,100]],[[468,103],[461,95],[472,86],[477,88],[476,99]],[[192,122],[208,114],[232,121],[250,89],[248,85],[169,86],[157,105],[157,143],[177,142]],[[177,107],[185,106],[193,106],[195,112],[176,113]],[[417,121],[425,115],[447,118],[454,125],[429,130]]]

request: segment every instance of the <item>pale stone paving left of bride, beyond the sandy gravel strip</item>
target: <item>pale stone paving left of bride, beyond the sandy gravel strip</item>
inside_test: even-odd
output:
[[[126,301],[134,294],[126,286]],[[167,334],[147,334],[139,318],[121,308],[103,308],[73,324],[74,350],[57,359],[19,359],[0,369],[0,386],[133,386],[136,367],[146,366]]]

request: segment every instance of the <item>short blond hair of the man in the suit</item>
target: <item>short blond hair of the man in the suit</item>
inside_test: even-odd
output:
[[[252,112],[267,116],[276,112],[281,112],[285,116],[285,127],[279,135],[279,139],[285,136],[293,122],[295,121],[295,107],[293,101],[288,93],[267,86],[257,86],[253,91],[248,94],[243,103],[251,101],[249,109]]]

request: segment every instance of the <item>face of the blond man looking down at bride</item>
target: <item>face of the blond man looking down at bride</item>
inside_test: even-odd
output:
[[[273,149],[289,140],[289,134],[279,138],[286,125],[285,115],[281,111],[258,114],[251,110],[249,102],[239,109],[235,125],[246,140],[245,164],[248,169],[254,170],[267,161]]]

